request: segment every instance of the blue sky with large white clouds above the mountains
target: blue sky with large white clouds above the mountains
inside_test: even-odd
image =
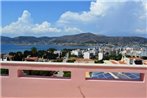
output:
[[[91,32],[147,38],[145,0],[2,1],[1,35],[63,36]]]

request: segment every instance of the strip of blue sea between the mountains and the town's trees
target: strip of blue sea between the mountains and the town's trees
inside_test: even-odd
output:
[[[57,50],[66,49],[87,49],[88,46],[63,46],[63,45],[14,45],[14,44],[1,44],[1,53],[17,52],[31,50],[32,47],[36,47],[38,50],[47,50],[49,48],[55,48]]]

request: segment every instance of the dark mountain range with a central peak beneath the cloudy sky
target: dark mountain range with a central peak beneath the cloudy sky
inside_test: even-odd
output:
[[[143,37],[112,37],[104,35],[96,35],[93,33],[81,33],[76,35],[66,35],[61,37],[33,37],[33,36],[19,36],[19,37],[5,37],[1,36],[2,44],[71,44],[71,45],[86,45],[97,43],[109,44],[147,44],[147,38]]]

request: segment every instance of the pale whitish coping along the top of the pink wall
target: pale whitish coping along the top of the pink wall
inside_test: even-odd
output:
[[[26,62],[26,61],[0,61],[0,65],[2,64],[25,64],[25,65],[60,65],[60,66],[86,66],[86,67],[125,67],[125,68],[145,68],[146,65],[127,65],[127,64],[93,64],[93,63],[56,63],[56,62]]]

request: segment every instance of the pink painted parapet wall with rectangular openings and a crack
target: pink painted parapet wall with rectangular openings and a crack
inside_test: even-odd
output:
[[[147,98],[147,67],[1,62],[2,98]],[[19,77],[20,70],[71,71],[71,79]],[[143,81],[86,80],[86,72],[138,72]]]

